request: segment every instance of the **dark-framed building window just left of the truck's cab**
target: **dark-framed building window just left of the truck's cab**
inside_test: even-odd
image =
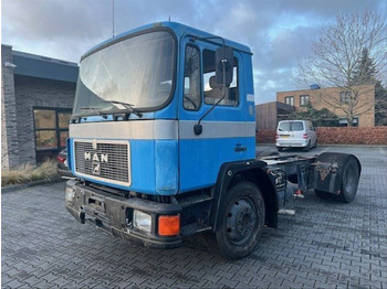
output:
[[[34,108],[36,162],[55,158],[66,147],[69,137],[69,108]]]

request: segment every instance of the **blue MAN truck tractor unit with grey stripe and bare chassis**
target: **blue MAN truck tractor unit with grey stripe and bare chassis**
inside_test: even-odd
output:
[[[352,154],[257,159],[250,49],[175,22],[82,56],[67,163],[79,222],[156,248],[200,233],[230,259],[276,227],[287,182],[348,203],[360,175]]]

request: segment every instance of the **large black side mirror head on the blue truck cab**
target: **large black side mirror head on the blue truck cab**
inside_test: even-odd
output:
[[[231,47],[221,46],[215,52],[217,83],[229,87],[232,83],[233,51]],[[224,73],[224,75],[223,75]],[[223,83],[224,78],[224,83]]]

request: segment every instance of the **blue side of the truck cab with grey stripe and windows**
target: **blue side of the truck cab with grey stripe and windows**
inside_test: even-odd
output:
[[[206,41],[182,42],[179,103],[179,184],[180,192],[211,186],[220,167],[230,161],[247,159],[247,116],[243,63],[234,51],[233,81],[226,92],[215,83],[215,51],[218,45]],[[223,96],[202,120],[202,132],[194,126]],[[242,101],[243,99],[243,101]]]

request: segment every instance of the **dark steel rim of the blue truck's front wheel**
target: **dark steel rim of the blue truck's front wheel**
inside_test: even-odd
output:
[[[248,240],[257,225],[257,210],[249,197],[240,197],[230,206],[227,214],[227,237],[234,244]]]

